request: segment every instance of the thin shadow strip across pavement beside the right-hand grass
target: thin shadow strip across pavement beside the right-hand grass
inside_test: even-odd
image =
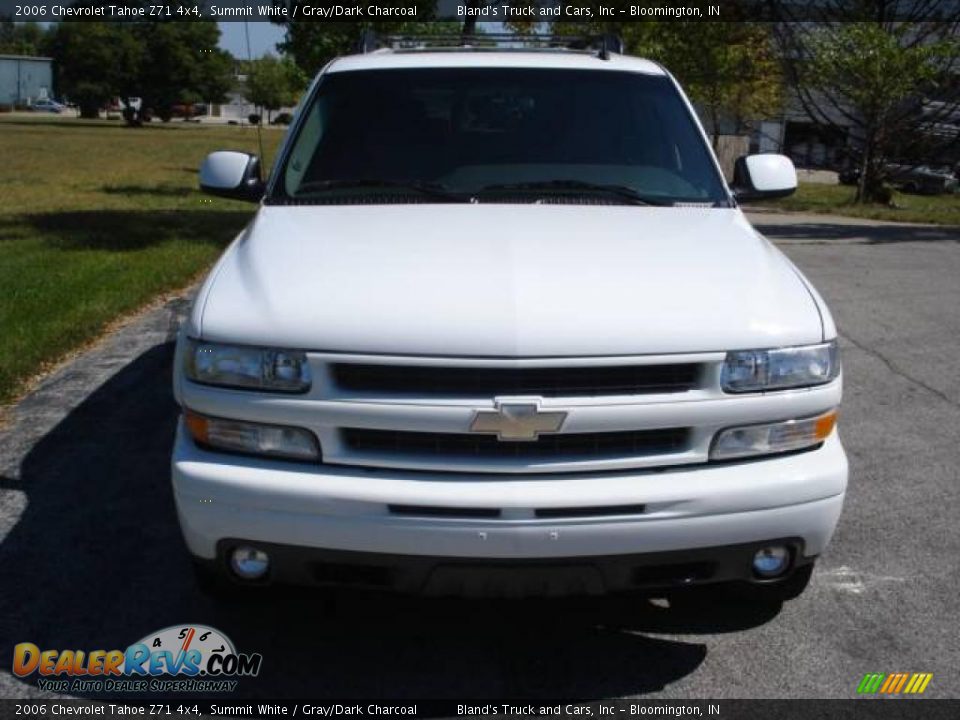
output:
[[[960,217],[957,218],[960,222]],[[863,245],[905,242],[960,242],[960,227],[949,225],[860,225],[848,223],[754,223],[775,240],[860,240]]]

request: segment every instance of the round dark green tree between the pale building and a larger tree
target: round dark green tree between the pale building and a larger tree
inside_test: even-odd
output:
[[[133,88],[144,60],[143,47],[121,23],[59,23],[50,52],[61,93],[77,103],[84,118],[99,117],[112,97]]]

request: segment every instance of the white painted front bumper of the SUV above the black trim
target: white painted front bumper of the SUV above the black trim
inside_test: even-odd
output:
[[[201,560],[216,560],[225,543],[243,540],[474,564],[596,565],[610,556],[694,557],[790,538],[802,564],[822,552],[837,524],[847,461],[834,432],[809,452],[659,471],[403,472],[212,453],[181,426],[172,474],[184,538]],[[619,507],[623,514],[610,512]],[[417,508],[443,513],[421,516]],[[470,517],[477,509],[497,516]]]

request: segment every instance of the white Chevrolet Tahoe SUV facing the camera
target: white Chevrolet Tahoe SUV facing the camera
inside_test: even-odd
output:
[[[177,345],[205,586],[803,589],[847,461],[837,330],[659,65],[379,49],[327,65]]]

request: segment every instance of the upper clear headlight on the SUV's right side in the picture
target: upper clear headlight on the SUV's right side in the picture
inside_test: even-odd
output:
[[[757,392],[823,385],[840,374],[837,341],[775,350],[727,353],[720,382],[725,392]]]

